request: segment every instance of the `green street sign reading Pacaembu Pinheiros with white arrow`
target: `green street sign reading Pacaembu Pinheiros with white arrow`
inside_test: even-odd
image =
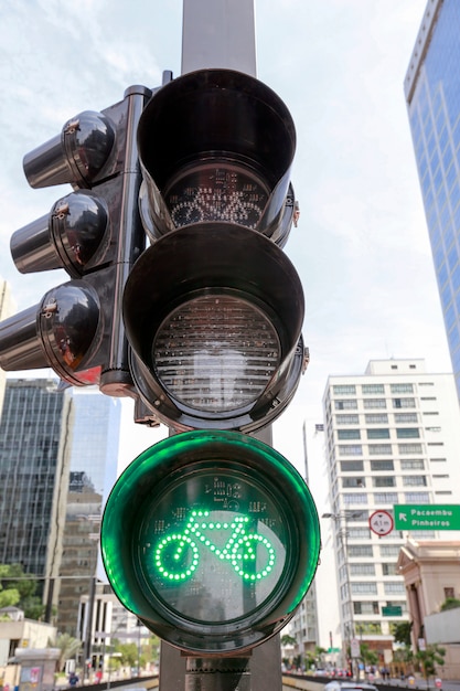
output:
[[[395,504],[396,530],[460,530],[460,504]]]

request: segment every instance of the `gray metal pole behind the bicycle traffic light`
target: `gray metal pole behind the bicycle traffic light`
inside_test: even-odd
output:
[[[222,67],[256,75],[254,0],[183,0],[182,74]],[[258,437],[271,446],[271,426]],[[250,657],[193,658],[161,644],[160,691],[281,691],[279,636]]]

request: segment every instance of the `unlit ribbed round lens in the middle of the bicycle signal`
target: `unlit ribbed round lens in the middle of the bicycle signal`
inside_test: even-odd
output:
[[[225,413],[258,398],[279,366],[280,344],[255,305],[207,295],[168,316],[153,341],[152,361],[181,403]]]

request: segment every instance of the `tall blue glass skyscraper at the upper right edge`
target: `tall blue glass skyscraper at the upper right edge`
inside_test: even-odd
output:
[[[460,398],[460,2],[429,0],[405,96]]]

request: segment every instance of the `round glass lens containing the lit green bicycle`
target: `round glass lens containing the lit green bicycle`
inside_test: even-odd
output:
[[[205,488],[215,479],[210,471],[197,479],[202,499],[206,500]],[[220,474],[218,479],[235,485],[234,474],[226,478]],[[248,487],[247,479],[240,489],[254,496],[260,492],[260,487]],[[162,506],[170,500],[176,507],[182,493],[183,488],[178,487],[175,497],[168,493]],[[282,517],[270,498],[264,499],[274,528],[252,513],[200,509],[191,510],[184,521],[174,522],[170,531],[150,542],[149,522],[146,542],[140,543],[146,582],[178,614],[193,613],[203,624],[253,612],[276,588],[286,562]]]

